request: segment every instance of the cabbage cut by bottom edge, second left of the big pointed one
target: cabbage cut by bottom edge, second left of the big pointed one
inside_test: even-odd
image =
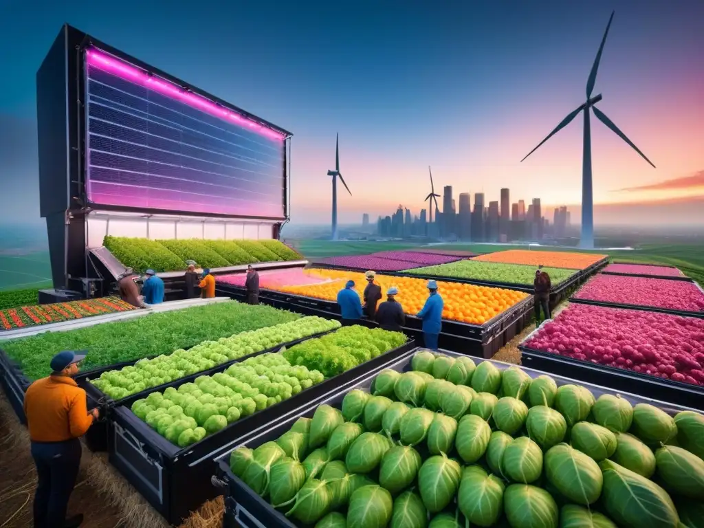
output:
[[[544,489],[511,484],[503,494],[506,518],[515,528],[558,528],[558,505]]]

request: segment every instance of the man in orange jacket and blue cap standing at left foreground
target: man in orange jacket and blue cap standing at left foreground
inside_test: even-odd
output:
[[[66,519],[68,499],[81,462],[80,437],[98,419],[88,411],[86,392],[73,380],[83,353],[59,352],[51,359],[51,375],[37,379],[25,394],[25,416],[32,458],[37,466],[34,494],[35,527],[78,527],[83,515]]]

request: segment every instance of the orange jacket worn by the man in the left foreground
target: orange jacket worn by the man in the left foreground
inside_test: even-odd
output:
[[[61,442],[86,434],[93,424],[88,414],[86,392],[68,376],[37,379],[25,394],[25,416],[30,439]]]

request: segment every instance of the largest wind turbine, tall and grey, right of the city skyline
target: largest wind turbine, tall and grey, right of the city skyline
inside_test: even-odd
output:
[[[591,96],[594,89],[594,83],[596,82],[596,72],[599,68],[599,61],[601,61],[601,52],[604,49],[604,44],[606,42],[606,35],[609,34],[609,27],[611,27],[611,21],[614,18],[615,11],[612,11],[611,17],[609,18],[609,23],[606,25],[606,31],[604,32],[604,37],[601,39],[601,46],[599,46],[599,51],[596,52],[596,58],[594,59],[594,64],[591,67],[591,72],[589,73],[589,78],[586,81],[586,102],[580,105],[575,111],[567,114],[567,117],[563,119],[555,130],[548,134],[548,137],[543,139],[535,149],[528,153],[530,156],[534,153],[543,143],[548,141],[551,137],[557,134],[560,130],[570,124],[570,122],[577,117],[577,114],[584,112],[584,151],[582,154],[582,239],[579,241],[579,246],[584,249],[593,249],[594,247],[594,216],[593,216],[593,197],[592,197],[592,183],[591,183],[591,128],[589,125],[589,109],[593,111],[596,118],[603,122],[606,127],[608,127],[612,132],[614,132],[618,137],[629,144],[637,153],[643,156],[643,159],[653,165],[653,162],[646,158],[637,146],[631,142],[630,139],[626,137],[626,134],[621,132],[619,128],[614,124],[612,120],[606,117],[605,113],[594,106],[596,103],[601,101],[602,96],[598,94],[596,96]],[[525,158],[527,158],[526,156]],[[523,161],[523,158],[521,161]],[[653,165],[655,168],[655,165]]]

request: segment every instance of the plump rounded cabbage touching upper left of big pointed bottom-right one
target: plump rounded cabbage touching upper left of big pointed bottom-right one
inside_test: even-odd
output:
[[[601,495],[603,478],[596,462],[567,444],[558,444],[545,453],[548,481],[570,501],[589,505]]]

